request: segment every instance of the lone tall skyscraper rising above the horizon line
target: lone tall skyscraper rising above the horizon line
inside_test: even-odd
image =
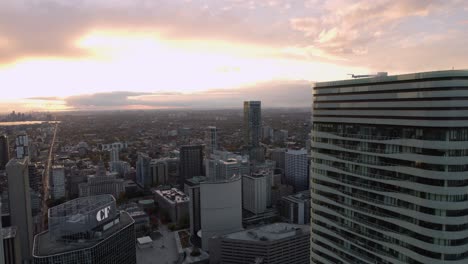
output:
[[[244,102],[244,144],[249,147],[260,146],[262,136],[262,109],[260,101]]]

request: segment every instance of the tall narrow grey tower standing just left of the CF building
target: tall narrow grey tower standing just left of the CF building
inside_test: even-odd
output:
[[[21,259],[23,261],[29,261],[31,259],[33,239],[28,165],[28,158],[11,159],[6,165],[11,225],[17,227]]]

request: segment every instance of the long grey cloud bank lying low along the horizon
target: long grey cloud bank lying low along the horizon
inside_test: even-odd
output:
[[[308,81],[271,81],[238,89],[194,93],[109,92],[65,98],[70,109],[109,110],[141,108],[239,108],[245,100],[261,100],[265,107],[309,107],[312,84]]]

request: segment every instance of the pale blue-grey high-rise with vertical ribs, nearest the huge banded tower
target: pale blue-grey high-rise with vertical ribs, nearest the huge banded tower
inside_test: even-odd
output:
[[[288,149],[285,154],[286,183],[294,187],[295,192],[309,189],[309,163],[305,149]]]

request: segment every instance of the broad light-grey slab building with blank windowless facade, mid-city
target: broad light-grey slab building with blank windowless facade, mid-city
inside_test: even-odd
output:
[[[242,183],[239,175],[200,182],[202,248],[210,251],[215,236],[242,229]]]

